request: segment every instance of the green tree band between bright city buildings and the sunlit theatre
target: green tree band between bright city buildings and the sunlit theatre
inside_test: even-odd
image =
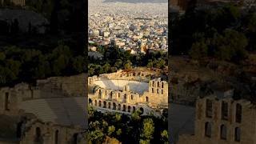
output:
[[[147,66],[149,68],[164,69],[167,66],[167,53],[159,51],[150,54],[130,54],[129,51],[122,51],[118,47],[98,46],[97,51],[101,53],[103,60],[89,58],[89,75],[112,73],[117,70],[131,70],[133,66]]]

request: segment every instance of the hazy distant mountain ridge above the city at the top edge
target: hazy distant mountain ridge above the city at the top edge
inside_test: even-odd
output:
[[[168,0],[103,0],[102,2],[126,2],[126,3],[167,3]]]

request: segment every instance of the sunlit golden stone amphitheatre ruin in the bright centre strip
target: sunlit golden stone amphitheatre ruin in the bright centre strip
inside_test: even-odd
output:
[[[160,116],[168,107],[168,84],[158,74],[146,71],[118,71],[88,79],[89,104],[97,110]],[[152,79],[151,79],[152,78]]]

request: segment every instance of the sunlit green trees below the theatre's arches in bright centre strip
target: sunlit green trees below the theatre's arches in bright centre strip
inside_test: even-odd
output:
[[[90,107],[89,142],[102,143],[114,138],[128,143],[168,143],[167,118],[142,116],[136,110],[131,116],[115,113],[101,113]]]

